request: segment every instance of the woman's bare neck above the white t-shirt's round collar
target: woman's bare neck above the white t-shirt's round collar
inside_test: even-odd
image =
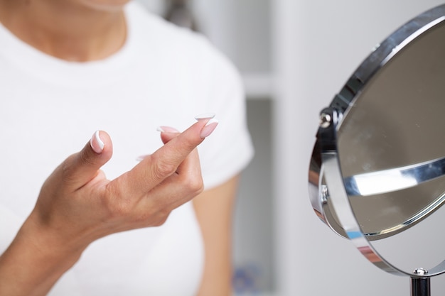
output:
[[[109,57],[127,36],[122,6],[80,0],[0,0],[0,22],[34,48],[77,62]]]

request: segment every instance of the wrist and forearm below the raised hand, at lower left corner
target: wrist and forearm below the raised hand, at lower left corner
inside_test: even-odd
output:
[[[46,295],[85,249],[68,245],[28,218],[0,256],[0,295]]]

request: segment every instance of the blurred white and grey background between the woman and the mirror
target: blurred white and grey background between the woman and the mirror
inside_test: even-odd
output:
[[[307,172],[327,106],[372,48],[438,0],[138,0],[205,34],[242,73],[256,155],[234,224],[237,295],[409,295],[318,220]],[[403,251],[403,250],[401,250]],[[431,292],[445,291],[443,276]]]

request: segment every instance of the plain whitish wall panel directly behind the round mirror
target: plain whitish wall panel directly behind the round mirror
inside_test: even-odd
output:
[[[385,273],[316,218],[307,169],[327,106],[371,48],[434,0],[274,0],[275,185],[280,296],[409,295],[409,279]],[[401,250],[402,251],[402,250]],[[431,280],[445,291],[443,276]]]

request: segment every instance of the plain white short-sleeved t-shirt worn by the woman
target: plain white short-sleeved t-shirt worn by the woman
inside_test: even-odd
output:
[[[0,26],[0,253],[33,209],[43,181],[97,129],[113,140],[112,179],[194,116],[220,121],[199,147],[205,187],[240,172],[253,149],[240,77],[205,38],[136,3],[126,6],[127,42],[105,60],[58,60]],[[26,266],[23,266],[26,268]],[[191,203],[163,226],[95,241],[50,295],[194,295],[203,242]]]

